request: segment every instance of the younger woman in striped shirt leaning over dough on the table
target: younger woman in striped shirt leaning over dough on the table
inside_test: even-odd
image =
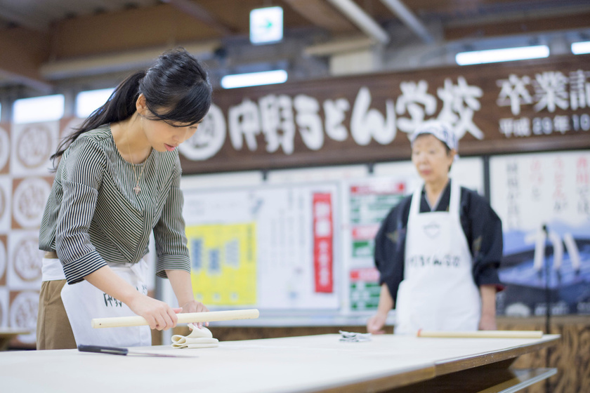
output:
[[[156,274],[169,279],[182,312],[208,311],[192,292],[177,147],[210,105],[202,64],[169,51],[119,84],[58,147],[39,233],[39,349],[151,345],[150,328],[176,326],[180,310],[147,296],[152,233]],[[91,328],[92,318],[135,314],[149,327]]]

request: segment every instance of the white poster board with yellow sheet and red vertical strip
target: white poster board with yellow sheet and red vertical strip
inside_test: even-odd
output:
[[[198,300],[208,307],[339,307],[336,184],[184,193]]]

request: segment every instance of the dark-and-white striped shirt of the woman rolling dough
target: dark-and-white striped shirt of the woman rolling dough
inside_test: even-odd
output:
[[[141,164],[141,191],[133,164],[125,161],[105,125],[81,134],[64,152],[45,207],[39,248],[55,251],[68,284],[82,281],[108,262],[137,263],[153,230],[156,274],[190,272],[182,217],[178,151],[157,152]]]

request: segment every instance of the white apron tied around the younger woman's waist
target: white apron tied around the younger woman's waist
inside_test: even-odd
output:
[[[136,264],[112,263],[110,268],[147,295],[145,272],[147,263],[140,260]],[[93,328],[91,319],[105,317],[136,316],[123,302],[111,298],[88,281],[63,286],[61,297],[67,318],[70,319],[76,344],[105,345],[108,347],[137,347],[152,345],[150,326],[131,326],[124,328]]]

